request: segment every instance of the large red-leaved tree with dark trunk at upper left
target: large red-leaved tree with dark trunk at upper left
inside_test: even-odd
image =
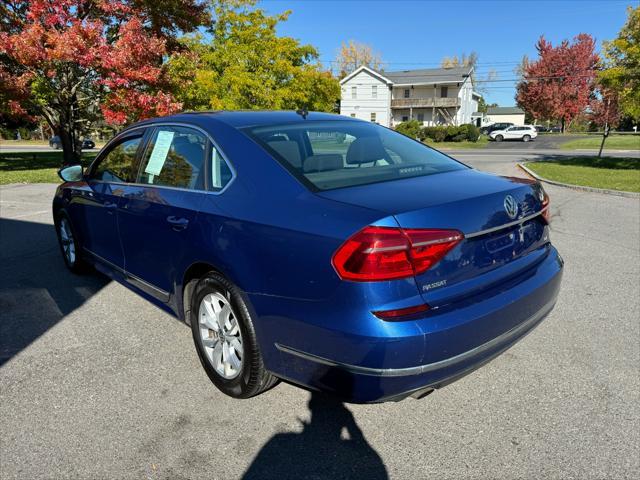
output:
[[[199,0],[8,0],[1,13],[4,113],[42,116],[64,163],[79,161],[80,137],[100,114],[124,124],[181,107],[165,91],[162,59],[178,29],[208,15]]]

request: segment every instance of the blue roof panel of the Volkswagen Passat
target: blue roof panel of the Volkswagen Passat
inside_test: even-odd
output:
[[[166,117],[151,118],[130,125],[129,127],[127,127],[127,129],[158,122],[192,123],[200,126],[206,126],[211,122],[219,122],[227,124],[233,128],[245,128],[283,123],[303,123],[305,121],[318,120],[363,122],[363,120],[357,120],[351,117],[345,117],[343,115],[324,112],[308,112],[306,116],[303,116],[302,114],[297,113],[294,110],[219,110],[182,112]]]

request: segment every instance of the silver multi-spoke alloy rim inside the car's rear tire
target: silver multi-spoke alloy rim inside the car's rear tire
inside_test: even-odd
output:
[[[242,371],[244,355],[242,332],[229,300],[220,293],[210,293],[200,302],[198,331],[209,363],[225,380]]]

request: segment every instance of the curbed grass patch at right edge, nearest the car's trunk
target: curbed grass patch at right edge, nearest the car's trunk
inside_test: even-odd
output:
[[[640,159],[554,157],[526,166],[548,180],[587,187],[640,192]]]

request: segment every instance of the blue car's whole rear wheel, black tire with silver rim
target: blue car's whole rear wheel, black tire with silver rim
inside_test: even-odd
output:
[[[191,331],[213,384],[234,398],[250,398],[278,383],[264,367],[249,309],[238,287],[212,272],[191,296]]]

